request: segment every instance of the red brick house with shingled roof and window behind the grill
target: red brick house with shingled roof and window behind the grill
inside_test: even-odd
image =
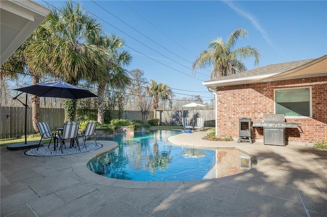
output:
[[[262,122],[264,114],[284,114],[286,144],[327,139],[327,55],[272,64],[202,83],[216,97],[216,135],[239,137],[239,119]],[[263,142],[262,127],[251,127]]]

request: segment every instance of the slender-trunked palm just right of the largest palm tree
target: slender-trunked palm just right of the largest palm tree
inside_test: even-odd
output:
[[[104,123],[104,92],[106,86],[115,90],[124,91],[131,83],[127,71],[123,66],[128,66],[131,61],[129,52],[123,49],[125,41],[121,37],[115,35],[106,36],[103,42],[103,47],[108,51],[109,58],[107,59],[107,68],[104,68],[107,73],[103,79],[98,80],[98,122]]]

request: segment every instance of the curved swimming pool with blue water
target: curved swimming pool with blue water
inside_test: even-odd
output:
[[[91,159],[87,167],[102,176],[137,181],[187,181],[212,179],[244,172],[255,165],[236,149],[195,149],[173,146],[174,130],[135,132],[107,140],[118,147]],[[104,138],[101,138],[104,140]]]

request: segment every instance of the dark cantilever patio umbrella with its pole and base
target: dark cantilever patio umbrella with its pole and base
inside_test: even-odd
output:
[[[81,98],[88,98],[88,97],[98,97],[96,94],[93,94],[89,90],[78,87],[75,85],[67,84],[64,82],[54,82],[54,83],[39,83],[36,85],[24,87],[24,88],[18,88],[14,89],[16,91],[21,91],[24,93],[33,94],[39,97],[56,97],[56,98],[67,98],[67,99],[81,99]],[[22,93],[20,93],[22,94]],[[20,95],[18,94],[13,99],[17,99],[19,102],[21,102],[17,97]],[[7,149],[9,150],[18,150],[18,149],[24,149],[25,147],[32,148],[33,145],[27,144],[27,94],[26,94],[26,102],[23,103],[25,106],[25,144],[13,144],[12,146],[8,145]]]

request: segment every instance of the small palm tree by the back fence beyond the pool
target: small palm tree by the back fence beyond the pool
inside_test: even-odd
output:
[[[149,96],[153,97],[152,106],[154,110],[154,117],[157,118],[157,108],[159,100],[169,100],[171,102],[172,91],[166,84],[157,84],[154,80],[150,80],[151,85],[147,87]]]

